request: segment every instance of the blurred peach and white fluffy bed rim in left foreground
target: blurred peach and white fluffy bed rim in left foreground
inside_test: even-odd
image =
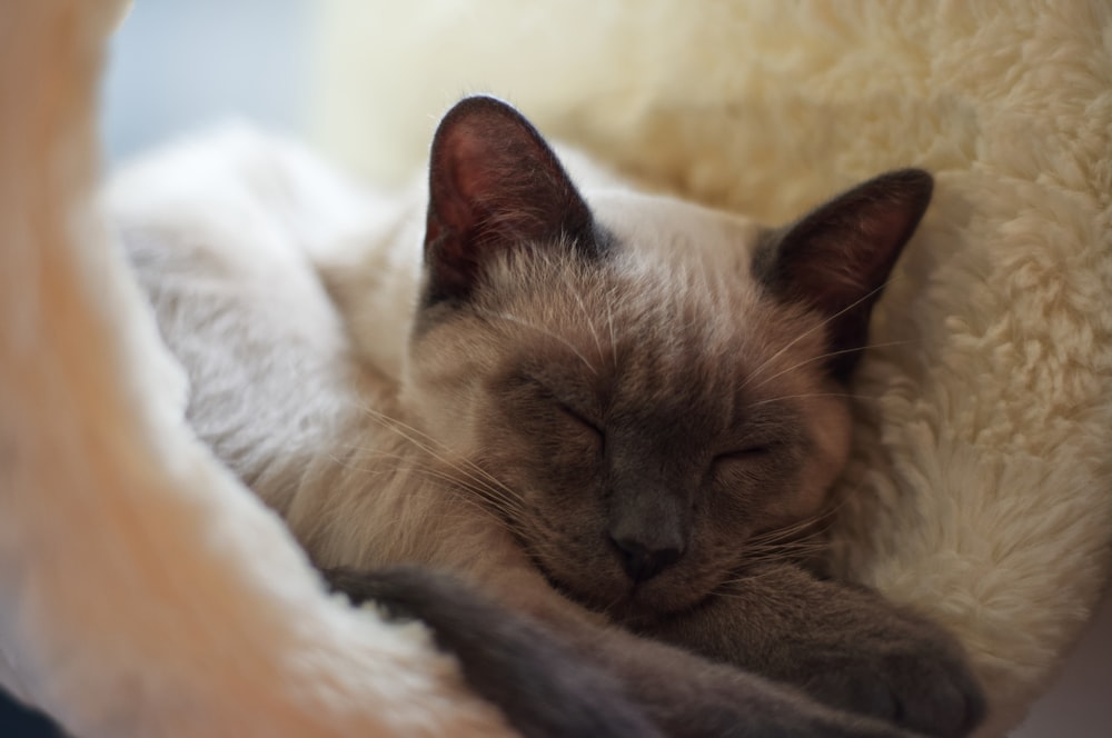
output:
[[[123,2],[0,10],[0,682],[77,736],[504,736],[191,436],[93,205]]]

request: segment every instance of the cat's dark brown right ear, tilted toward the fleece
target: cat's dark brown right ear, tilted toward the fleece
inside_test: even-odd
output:
[[[847,379],[857,363],[873,305],[933,189],[934,180],[921,169],[881,174],[770,232],[754,255],[754,275],[777,297],[827,318],[835,378]]]

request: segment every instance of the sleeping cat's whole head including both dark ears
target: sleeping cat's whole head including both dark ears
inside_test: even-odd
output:
[[[931,189],[892,172],[777,230],[632,192],[588,205],[520,114],[466,99],[433,143],[405,401],[558,588],[688,607],[755,533],[823,508],[845,382]]]

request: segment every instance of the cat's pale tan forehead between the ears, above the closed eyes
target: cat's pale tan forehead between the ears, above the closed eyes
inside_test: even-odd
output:
[[[624,193],[595,196],[593,206],[605,258],[506,262],[496,278],[502,287],[488,296],[508,298],[492,307],[514,355],[612,401],[663,408],[783,392],[800,373],[793,367],[822,351],[816,318],[754,279],[755,223]]]

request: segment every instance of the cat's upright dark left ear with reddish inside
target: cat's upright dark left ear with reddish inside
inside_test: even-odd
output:
[[[466,98],[440,121],[429,164],[426,305],[466,299],[495,253],[550,245],[592,252],[593,231],[556,154],[512,107]]]

